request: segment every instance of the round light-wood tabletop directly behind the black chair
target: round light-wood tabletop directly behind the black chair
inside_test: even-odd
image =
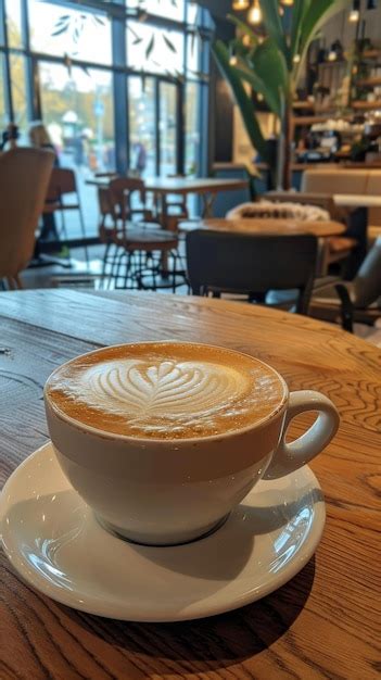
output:
[[[340,222],[305,222],[301,219],[283,218],[242,218],[242,219],[203,219],[194,224],[192,229],[211,229],[213,231],[237,231],[240,234],[313,234],[318,238],[339,236],[345,231],[345,225]],[[187,223],[180,229],[189,231]]]

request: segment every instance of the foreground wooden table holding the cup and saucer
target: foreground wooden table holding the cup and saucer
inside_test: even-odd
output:
[[[51,370],[109,343],[176,338],[243,350],[271,363],[291,389],[329,394],[342,417],[334,441],[313,464],[326,493],[323,538],[287,585],[211,619],[138,625],[55,604],[24,585],[1,554],[1,679],[376,679],[377,348],[306,317],[164,294],[7,292],[0,315],[2,481],[48,438],[41,400]],[[293,423],[292,435],[306,423]]]

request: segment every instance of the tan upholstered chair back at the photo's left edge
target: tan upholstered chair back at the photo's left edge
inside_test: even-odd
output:
[[[33,257],[54,154],[17,148],[0,155],[0,279],[23,288],[20,272]]]

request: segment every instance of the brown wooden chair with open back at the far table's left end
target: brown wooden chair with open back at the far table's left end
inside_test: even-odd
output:
[[[138,191],[142,207],[131,207],[131,196]],[[99,205],[101,213],[100,238],[105,243],[103,257],[103,277],[113,278],[118,287],[118,280],[123,279],[123,288],[132,282],[137,288],[145,288],[147,274],[152,276],[152,285],[149,288],[156,290],[156,276],[162,269],[167,268],[168,257],[174,260],[174,272],[177,260],[177,236],[165,231],[158,224],[149,226],[153,219],[151,211],[145,206],[145,188],[141,179],[122,178],[113,179],[107,188],[99,190]],[[141,214],[142,221],[132,222],[132,218]],[[106,225],[111,217],[112,226]],[[158,254],[158,262],[154,253]],[[124,268],[124,274],[120,272]],[[168,286],[165,286],[166,288]],[[176,288],[174,274],[172,287]]]

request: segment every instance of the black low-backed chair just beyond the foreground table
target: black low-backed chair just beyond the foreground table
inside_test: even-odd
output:
[[[253,236],[196,229],[187,235],[193,294],[246,294],[264,302],[272,290],[296,290],[296,312],[307,314],[317,239],[312,235]]]

